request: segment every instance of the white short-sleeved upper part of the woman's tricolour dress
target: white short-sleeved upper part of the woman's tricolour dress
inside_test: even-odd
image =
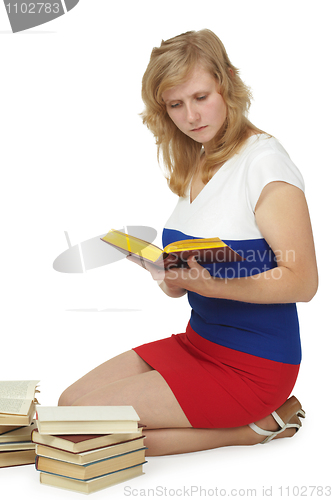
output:
[[[192,203],[190,190],[179,198],[165,227],[198,238],[262,238],[254,210],[262,189],[273,181],[304,190],[302,175],[281,144],[266,134],[251,136]]]

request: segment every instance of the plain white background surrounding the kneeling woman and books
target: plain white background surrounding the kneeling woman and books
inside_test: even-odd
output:
[[[158,486],[168,496],[197,486],[206,496],[216,496],[215,488],[244,488],[240,496],[255,488],[257,497],[273,487],[278,497],[279,486],[287,495],[288,486],[331,484],[328,0],[81,0],[17,34],[0,5],[0,379],[40,379],[40,402],[55,405],[64,388],[106,359],[184,330],[186,299],[159,293],[139,267],[120,261],[62,274],[52,263],[67,247],[64,231],[74,245],[111,227],[147,225],[158,229],[160,244],[176,197],[141,123],[141,78],[153,46],[201,28],[222,39],[252,88],[250,119],[282,142],[305,178],[320,271],[318,294],[299,305],[303,363],[294,394],[308,416],[291,440],[150,458],[144,476],[96,499],[129,491],[157,496]],[[33,466],[0,470],[0,485],[1,495],[28,499],[77,495],[40,486]],[[311,490],[290,496],[301,492]]]

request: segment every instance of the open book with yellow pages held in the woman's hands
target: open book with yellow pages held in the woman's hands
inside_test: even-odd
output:
[[[220,238],[204,238],[181,240],[167,245],[163,250],[148,241],[141,240],[121,231],[112,229],[102,241],[117,248],[127,256],[134,255],[140,258],[142,267],[144,262],[150,262],[158,267],[171,269],[172,267],[188,267],[187,259],[196,257],[199,264],[214,262],[235,262],[244,260]]]

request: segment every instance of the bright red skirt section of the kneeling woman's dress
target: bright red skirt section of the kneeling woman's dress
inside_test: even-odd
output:
[[[133,349],[165,379],[195,428],[248,425],[279,408],[299,371],[186,333]]]

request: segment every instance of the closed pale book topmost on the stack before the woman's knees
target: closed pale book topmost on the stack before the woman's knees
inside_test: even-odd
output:
[[[132,406],[39,406],[40,434],[122,434],[137,432]]]

